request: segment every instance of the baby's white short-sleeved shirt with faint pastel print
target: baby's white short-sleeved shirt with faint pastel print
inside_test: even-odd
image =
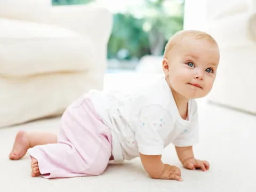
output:
[[[91,90],[89,97],[110,127],[115,161],[132,159],[139,153],[162,155],[171,142],[178,147],[198,142],[196,101],[189,100],[188,119],[182,119],[164,77],[131,95]]]

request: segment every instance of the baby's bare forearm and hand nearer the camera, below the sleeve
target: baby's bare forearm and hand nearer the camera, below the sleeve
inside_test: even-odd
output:
[[[180,169],[176,166],[164,164],[161,161],[162,155],[140,154],[141,163],[144,169],[153,179],[174,179],[182,181]]]

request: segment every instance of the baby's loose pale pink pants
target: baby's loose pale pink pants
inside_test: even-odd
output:
[[[84,95],[63,113],[58,142],[28,150],[44,178],[99,175],[111,156],[111,133]]]

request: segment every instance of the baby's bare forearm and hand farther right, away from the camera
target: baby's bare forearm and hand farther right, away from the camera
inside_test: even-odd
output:
[[[195,159],[192,146],[175,146],[175,149],[180,159],[180,162],[186,169],[195,170],[196,168],[200,168],[202,171],[209,170],[209,162]]]

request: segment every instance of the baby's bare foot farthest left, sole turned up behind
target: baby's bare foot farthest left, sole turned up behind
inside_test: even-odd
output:
[[[18,160],[23,157],[29,148],[29,138],[26,131],[19,131],[16,135],[12,151],[9,158],[12,160]]]

